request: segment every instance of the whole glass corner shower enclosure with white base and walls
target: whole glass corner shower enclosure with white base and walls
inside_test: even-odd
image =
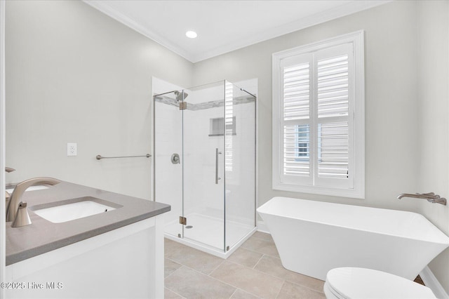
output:
[[[228,81],[153,98],[166,237],[226,258],[255,232],[256,98]]]

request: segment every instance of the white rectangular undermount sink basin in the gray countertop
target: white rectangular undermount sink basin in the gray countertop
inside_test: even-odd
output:
[[[53,222],[67,222],[79,218],[88,217],[95,214],[105,213],[115,210],[112,206],[99,204],[91,200],[74,202],[72,204],[62,204],[60,206],[52,206],[50,208],[32,209],[34,213],[42,218]]]

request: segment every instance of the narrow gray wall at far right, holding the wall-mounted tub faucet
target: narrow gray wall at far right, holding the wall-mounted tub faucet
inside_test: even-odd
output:
[[[449,2],[420,2],[418,11],[418,186],[424,192],[433,191],[449,197]],[[449,234],[449,207],[424,201],[420,213]],[[434,259],[430,267],[449,293],[449,250]]]

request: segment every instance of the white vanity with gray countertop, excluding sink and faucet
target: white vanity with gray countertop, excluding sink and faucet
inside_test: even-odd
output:
[[[95,197],[121,208],[62,223],[29,208],[6,224],[6,298],[163,298],[166,204],[62,182],[25,192],[30,206]]]

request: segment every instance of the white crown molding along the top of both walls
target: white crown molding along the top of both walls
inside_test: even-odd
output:
[[[209,51],[203,51],[200,53],[189,53],[185,51],[183,48],[179,46],[175,46],[172,42],[170,42],[165,37],[157,34],[149,28],[143,27],[138,22],[129,18],[127,15],[123,15],[123,13],[119,13],[114,8],[109,6],[105,1],[101,0],[83,0],[84,3],[92,6],[93,8],[98,9],[102,13],[109,15],[109,17],[113,18],[121,22],[122,24],[134,29],[135,31],[147,36],[149,39],[156,41],[156,43],[161,44],[168,48],[170,51],[173,51],[177,55],[182,56],[183,58],[189,60],[190,62],[199,62],[201,60],[206,60],[208,58],[213,58],[218,55],[222,55],[225,53],[229,53],[231,51],[238,50],[240,48],[245,48],[247,46],[260,43],[262,41],[267,41],[269,39],[274,39],[275,37],[288,34],[291,32],[295,32],[300,29],[304,29],[307,27],[311,27],[314,25],[321,24],[323,22],[328,22],[330,20],[334,20],[337,18],[344,17],[345,15],[351,15],[352,13],[357,13],[358,11],[365,11],[369,8],[373,8],[375,6],[380,6],[382,4],[387,4],[392,0],[361,0],[361,1],[351,1],[342,6],[337,6],[335,8],[329,9],[328,11],[324,11],[322,13],[316,13],[314,15],[309,15],[306,18],[302,18],[300,20],[296,20],[294,22],[289,22],[285,25],[281,25],[278,27],[273,27],[265,32],[260,34],[254,34],[246,39],[239,39],[233,41],[231,43],[227,43],[222,46],[218,46],[217,48],[213,48]]]

